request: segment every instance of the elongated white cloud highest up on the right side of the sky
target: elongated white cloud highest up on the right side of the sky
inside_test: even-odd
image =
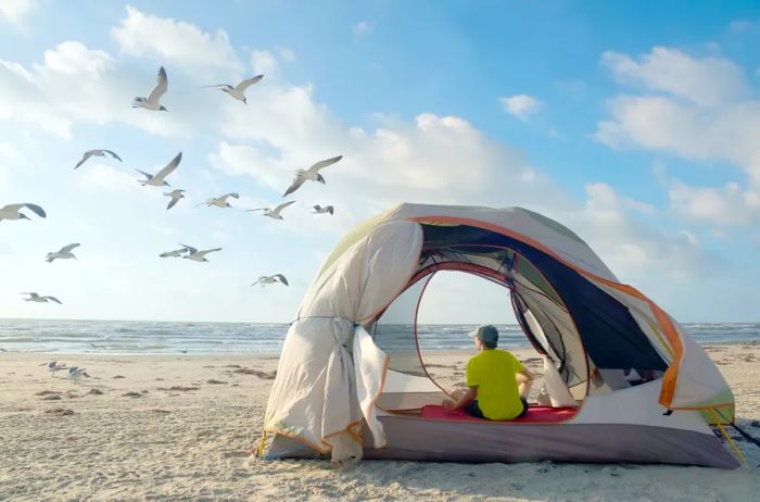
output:
[[[748,92],[744,70],[723,58],[692,58],[672,48],[656,47],[639,61],[607,51],[601,63],[621,83],[669,92],[701,106],[717,106]]]

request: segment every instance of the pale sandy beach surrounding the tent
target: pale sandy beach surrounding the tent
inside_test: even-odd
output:
[[[760,437],[760,346],[708,348]],[[522,360],[531,351],[516,351]],[[464,380],[469,354],[432,372]],[[662,465],[261,462],[249,456],[277,356],[56,356],[80,384],[51,377],[46,354],[0,352],[0,500],[650,500],[749,501],[760,449],[736,470]],[[530,364],[537,368],[537,360]]]

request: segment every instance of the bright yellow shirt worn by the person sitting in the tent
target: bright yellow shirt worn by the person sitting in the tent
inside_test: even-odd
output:
[[[467,363],[467,386],[478,387],[478,407],[486,418],[508,421],[522,413],[516,375],[522,364],[506,350],[483,350]]]

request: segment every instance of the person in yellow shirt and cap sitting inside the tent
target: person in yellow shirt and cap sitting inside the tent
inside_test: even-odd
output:
[[[480,353],[467,363],[466,392],[443,401],[447,410],[464,409],[468,414],[490,421],[509,421],[528,412],[525,397],[533,374],[506,350],[497,350],[498,330],[480,326],[471,334]]]

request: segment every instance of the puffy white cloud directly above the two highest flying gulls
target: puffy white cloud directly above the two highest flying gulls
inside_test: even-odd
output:
[[[190,23],[144,14],[130,5],[126,11],[112,30],[123,52],[154,57],[189,71],[241,70],[224,29],[212,36]]]

